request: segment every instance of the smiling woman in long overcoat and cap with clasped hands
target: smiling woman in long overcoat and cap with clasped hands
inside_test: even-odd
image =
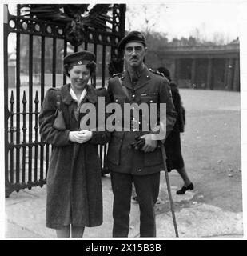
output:
[[[102,224],[98,144],[109,142],[110,134],[97,127],[90,130],[82,121],[86,103],[98,110],[97,90],[88,85],[96,67],[94,59],[88,51],[64,58],[71,83],[47,91],[39,116],[42,140],[54,146],[47,174],[46,226],[55,229],[58,237],[70,237],[70,233],[82,237],[85,226]],[[61,122],[54,125],[58,109],[65,127]]]

